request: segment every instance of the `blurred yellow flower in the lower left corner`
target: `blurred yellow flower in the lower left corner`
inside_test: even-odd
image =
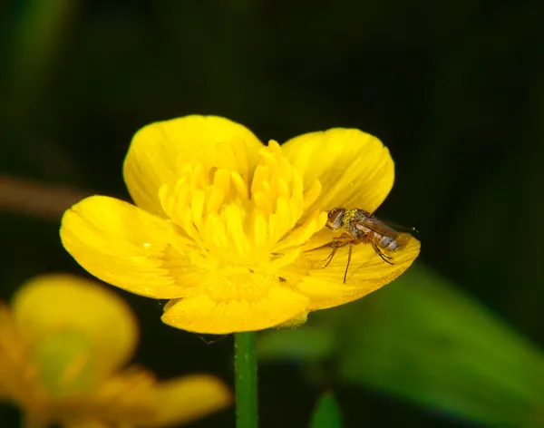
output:
[[[227,387],[210,375],[166,382],[121,369],[138,340],[131,309],[111,290],[69,275],[36,277],[0,302],[0,400],[24,426],[158,427],[224,408]]]

